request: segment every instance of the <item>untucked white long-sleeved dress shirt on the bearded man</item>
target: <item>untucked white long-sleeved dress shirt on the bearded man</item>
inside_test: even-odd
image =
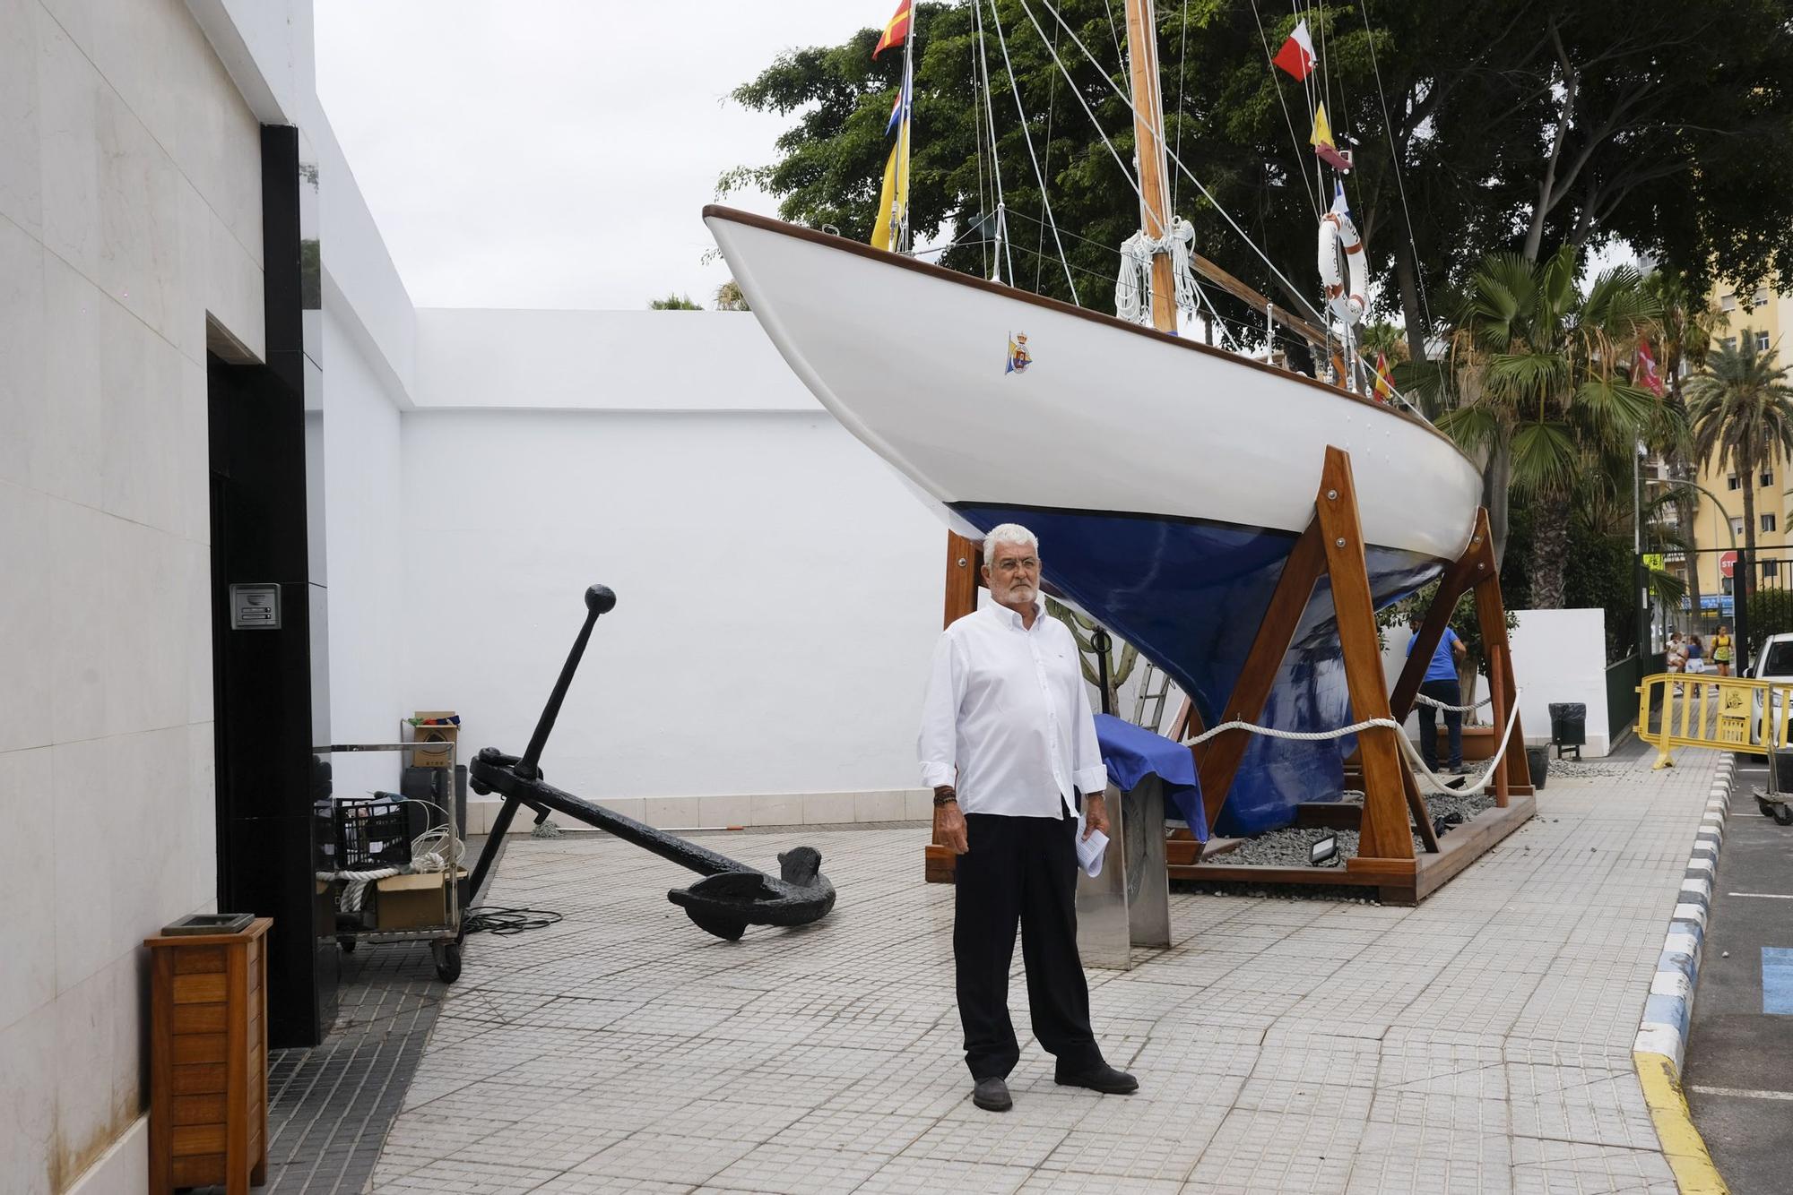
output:
[[[916,754],[965,813],[1076,817],[1072,790],[1103,792],[1108,770],[1065,623],[1036,602],[1027,629],[992,604],[941,631]]]

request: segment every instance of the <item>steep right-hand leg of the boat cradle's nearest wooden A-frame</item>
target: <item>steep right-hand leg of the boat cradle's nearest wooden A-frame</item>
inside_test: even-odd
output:
[[[1386,718],[1388,692],[1382,686],[1388,681],[1382,675],[1382,645],[1375,634],[1375,598],[1370,593],[1363,525],[1357,520],[1357,487],[1352,482],[1350,455],[1341,448],[1327,448],[1314,512],[1332,582],[1332,611],[1352,718]],[[1399,733],[1372,726],[1357,735],[1363,751],[1363,831],[1352,865],[1370,860],[1408,860],[1411,865],[1413,835],[1408,830],[1404,776],[1408,761],[1395,742]]]

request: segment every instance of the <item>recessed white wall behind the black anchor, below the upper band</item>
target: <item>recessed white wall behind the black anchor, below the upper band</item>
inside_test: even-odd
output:
[[[407,527],[441,529],[405,545],[407,706],[459,709],[464,751],[524,749],[602,582],[617,609],[549,744],[556,785],[638,799],[920,783],[945,532],[832,417],[420,410],[403,448]]]

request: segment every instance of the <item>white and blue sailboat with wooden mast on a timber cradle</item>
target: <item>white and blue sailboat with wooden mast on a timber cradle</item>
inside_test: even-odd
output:
[[[1006,521],[1038,534],[1045,580],[1212,726],[1312,518],[1329,446],[1354,464],[1377,606],[1463,554],[1481,477],[1415,412],[1176,335],[1151,0],[1126,11],[1153,326],[746,211],[710,206],[705,220],[773,344],[848,432],[961,534]],[[907,349],[879,351],[891,342]],[[1260,722],[1352,722],[1323,586]],[[1259,833],[1298,803],[1338,799],[1352,749],[1253,738],[1216,831]]]

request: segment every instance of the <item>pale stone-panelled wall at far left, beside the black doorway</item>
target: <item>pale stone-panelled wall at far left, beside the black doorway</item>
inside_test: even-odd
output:
[[[206,317],[262,351],[260,249],[179,0],[0,0],[5,1191],[145,1181],[140,942],[217,887]]]

